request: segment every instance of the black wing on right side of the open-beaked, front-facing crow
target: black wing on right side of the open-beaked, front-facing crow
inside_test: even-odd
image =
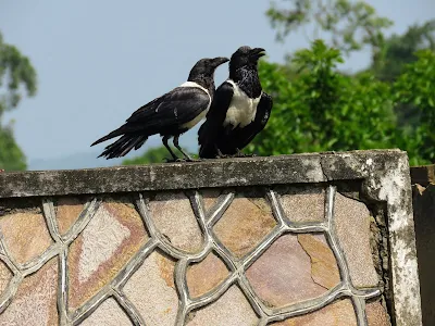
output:
[[[240,137],[237,137],[238,149],[245,148],[262,129],[264,129],[269,117],[271,116],[272,106],[272,97],[263,92],[260,102],[257,105],[257,113],[253,122],[240,129]]]

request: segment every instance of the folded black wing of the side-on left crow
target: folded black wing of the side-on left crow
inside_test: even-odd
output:
[[[123,134],[158,134],[161,129],[181,126],[194,120],[210,103],[209,95],[197,87],[177,87],[136,110],[126,123],[91,146]]]

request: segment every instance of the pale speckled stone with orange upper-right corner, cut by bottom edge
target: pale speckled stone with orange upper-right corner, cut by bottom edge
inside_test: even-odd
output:
[[[174,267],[173,261],[154,251],[124,287],[124,293],[147,325],[175,324],[178,297],[174,287]]]

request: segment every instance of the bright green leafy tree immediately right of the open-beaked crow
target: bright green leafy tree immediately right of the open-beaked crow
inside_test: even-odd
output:
[[[259,154],[387,148],[395,138],[388,84],[371,74],[345,76],[337,49],[323,41],[295,54],[291,83],[277,64],[261,62],[260,78],[274,98],[265,129],[250,150]]]

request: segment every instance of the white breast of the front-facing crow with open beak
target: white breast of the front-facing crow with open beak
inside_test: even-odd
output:
[[[257,105],[260,102],[261,96],[250,99],[236,83],[229,79],[226,83],[233,85],[234,93],[226,111],[224,126],[232,125],[233,129],[237,126],[245,127],[256,118]]]

